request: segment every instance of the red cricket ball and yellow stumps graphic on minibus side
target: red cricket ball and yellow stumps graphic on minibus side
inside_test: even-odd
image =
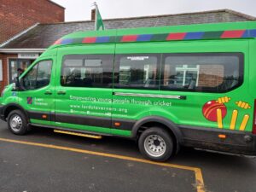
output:
[[[223,128],[223,119],[225,118],[227,114],[227,107],[225,106],[225,103],[230,102],[231,98],[228,96],[220,97],[218,100],[212,100],[209,102],[206,102],[202,108],[202,113],[204,117],[210,121],[217,122],[218,128]],[[235,102],[236,107],[240,109],[248,109],[251,108],[249,103],[247,102]],[[236,129],[236,120],[238,117],[238,109],[233,110],[232,116],[230,119],[230,130]],[[243,116],[243,119],[241,121],[241,125],[239,127],[239,131],[244,131],[247,122],[250,116],[248,114],[245,114]]]

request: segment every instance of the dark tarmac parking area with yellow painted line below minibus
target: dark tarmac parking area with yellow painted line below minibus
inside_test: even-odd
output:
[[[130,140],[95,140],[44,128],[15,136],[0,121],[1,192],[253,192],[255,171],[255,159],[190,148],[184,148],[165,164],[154,164],[143,160],[136,143]],[[200,177],[205,188],[201,188]]]

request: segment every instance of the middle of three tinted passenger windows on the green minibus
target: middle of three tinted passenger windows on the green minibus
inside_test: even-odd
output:
[[[119,55],[117,57],[119,72],[117,88],[158,89],[157,55]]]

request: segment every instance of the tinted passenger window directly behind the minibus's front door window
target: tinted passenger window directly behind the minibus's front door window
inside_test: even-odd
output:
[[[112,55],[65,55],[61,85],[69,87],[111,87]]]

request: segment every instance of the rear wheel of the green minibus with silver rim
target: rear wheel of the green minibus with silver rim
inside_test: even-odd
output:
[[[162,128],[152,127],[139,137],[140,152],[149,160],[166,161],[173,152],[173,139]]]

